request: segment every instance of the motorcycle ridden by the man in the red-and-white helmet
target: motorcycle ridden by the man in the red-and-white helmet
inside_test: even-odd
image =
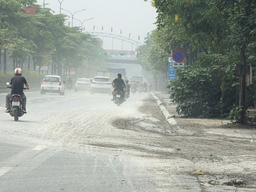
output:
[[[9,85],[9,83],[6,83],[7,85]],[[11,88],[11,87],[7,87],[7,88]],[[26,88],[23,88],[23,90],[26,90]],[[12,117],[14,117],[14,121],[18,121],[19,117],[23,116],[23,107],[22,107],[22,99],[20,97],[20,95],[12,95],[11,99],[10,99],[10,115]]]

